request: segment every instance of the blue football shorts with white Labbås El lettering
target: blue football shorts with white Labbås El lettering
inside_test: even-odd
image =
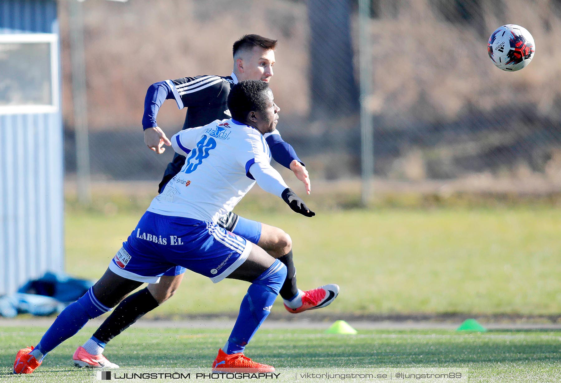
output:
[[[213,222],[147,211],[109,263],[109,270],[127,279],[158,283],[162,275],[177,275],[169,272],[188,268],[217,283],[245,262],[251,246]]]

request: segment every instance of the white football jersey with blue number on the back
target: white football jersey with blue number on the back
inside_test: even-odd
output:
[[[255,184],[250,166],[270,166],[270,149],[263,135],[232,119],[182,130],[171,142],[186,157],[185,165],[148,208],[165,216],[217,222]]]

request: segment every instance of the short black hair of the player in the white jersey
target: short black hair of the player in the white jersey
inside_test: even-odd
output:
[[[267,89],[269,84],[261,80],[244,80],[234,85],[228,95],[228,110],[232,113],[232,118],[247,122],[247,113],[264,112]]]

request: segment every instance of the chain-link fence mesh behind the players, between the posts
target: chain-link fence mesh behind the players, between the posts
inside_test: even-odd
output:
[[[116,12],[112,2],[84,3],[94,179],[159,180],[172,151],[158,156],[142,141],[146,88],[182,76],[228,75],[231,45],[246,33],[279,39],[271,81],[281,108],[278,128],[315,179],[360,176],[356,1],[118,6]],[[509,23],[525,26],[537,47],[530,66],[518,72],[496,69],[487,53],[491,32]],[[561,190],[561,2],[373,0],[370,33],[373,94],[366,101],[376,179],[478,180],[483,189],[516,179]],[[67,51],[63,43],[63,56]],[[185,116],[172,103],[158,115],[168,135]]]

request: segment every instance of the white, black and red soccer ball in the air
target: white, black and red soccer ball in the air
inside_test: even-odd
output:
[[[511,72],[528,65],[534,58],[535,50],[536,44],[530,32],[516,24],[497,28],[487,45],[487,52],[495,66]]]

